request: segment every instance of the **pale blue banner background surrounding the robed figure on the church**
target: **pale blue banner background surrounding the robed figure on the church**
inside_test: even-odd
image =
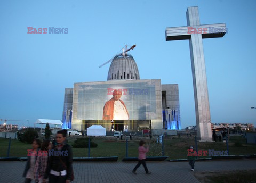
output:
[[[122,101],[122,106],[125,107],[129,114],[129,120],[157,119],[156,86],[154,82],[150,81],[78,84],[77,119],[105,120],[103,118],[104,110],[107,110],[105,105],[107,105],[108,101],[113,101],[115,90],[120,91],[122,94],[119,100]],[[115,108],[111,112],[115,112]],[[128,119],[108,118],[108,120]]]

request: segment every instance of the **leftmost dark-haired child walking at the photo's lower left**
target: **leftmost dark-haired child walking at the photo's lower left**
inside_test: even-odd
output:
[[[29,183],[32,180],[34,180],[34,169],[37,160],[37,152],[41,148],[41,143],[41,140],[38,138],[33,140],[32,150],[28,150],[28,160],[26,163],[25,170],[23,172],[23,177],[26,178],[25,183]]]

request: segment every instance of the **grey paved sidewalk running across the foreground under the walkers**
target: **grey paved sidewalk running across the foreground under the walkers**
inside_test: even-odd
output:
[[[0,162],[0,182],[24,182],[22,173],[26,162]],[[188,162],[147,162],[152,174],[147,175],[143,166],[137,175],[131,173],[136,162],[74,162],[75,182],[117,182],[117,183],[150,183],[150,182],[199,182],[191,172]],[[195,172],[221,170],[256,170],[256,159],[209,160],[195,163]]]

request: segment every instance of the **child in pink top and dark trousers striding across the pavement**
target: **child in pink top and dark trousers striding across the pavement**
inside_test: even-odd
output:
[[[148,168],[146,165],[146,153],[149,151],[149,147],[148,146],[145,147],[145,144],[146,144],[145,141],[140,140],[140,143],[139,143],[140,146],[138,148],[138,151],[139,151],[138,164],[132,170],[133,174],[137,174],[136,170],[140,167],[141,164],[143,165],[146,171],[146,174],[151,174],[151,171],[148,171]]]

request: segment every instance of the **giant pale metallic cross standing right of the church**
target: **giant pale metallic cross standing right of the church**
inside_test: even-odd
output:
[[[186,15],[188,26],[166,28],[165,38],[166,41],[189,40],[195,96],[197,136],[199,140],[211,141],[211,116],[202,38],[223,37],[226,34],[227,29],[225,23],[201,25],[197,6],[188,7]]]

